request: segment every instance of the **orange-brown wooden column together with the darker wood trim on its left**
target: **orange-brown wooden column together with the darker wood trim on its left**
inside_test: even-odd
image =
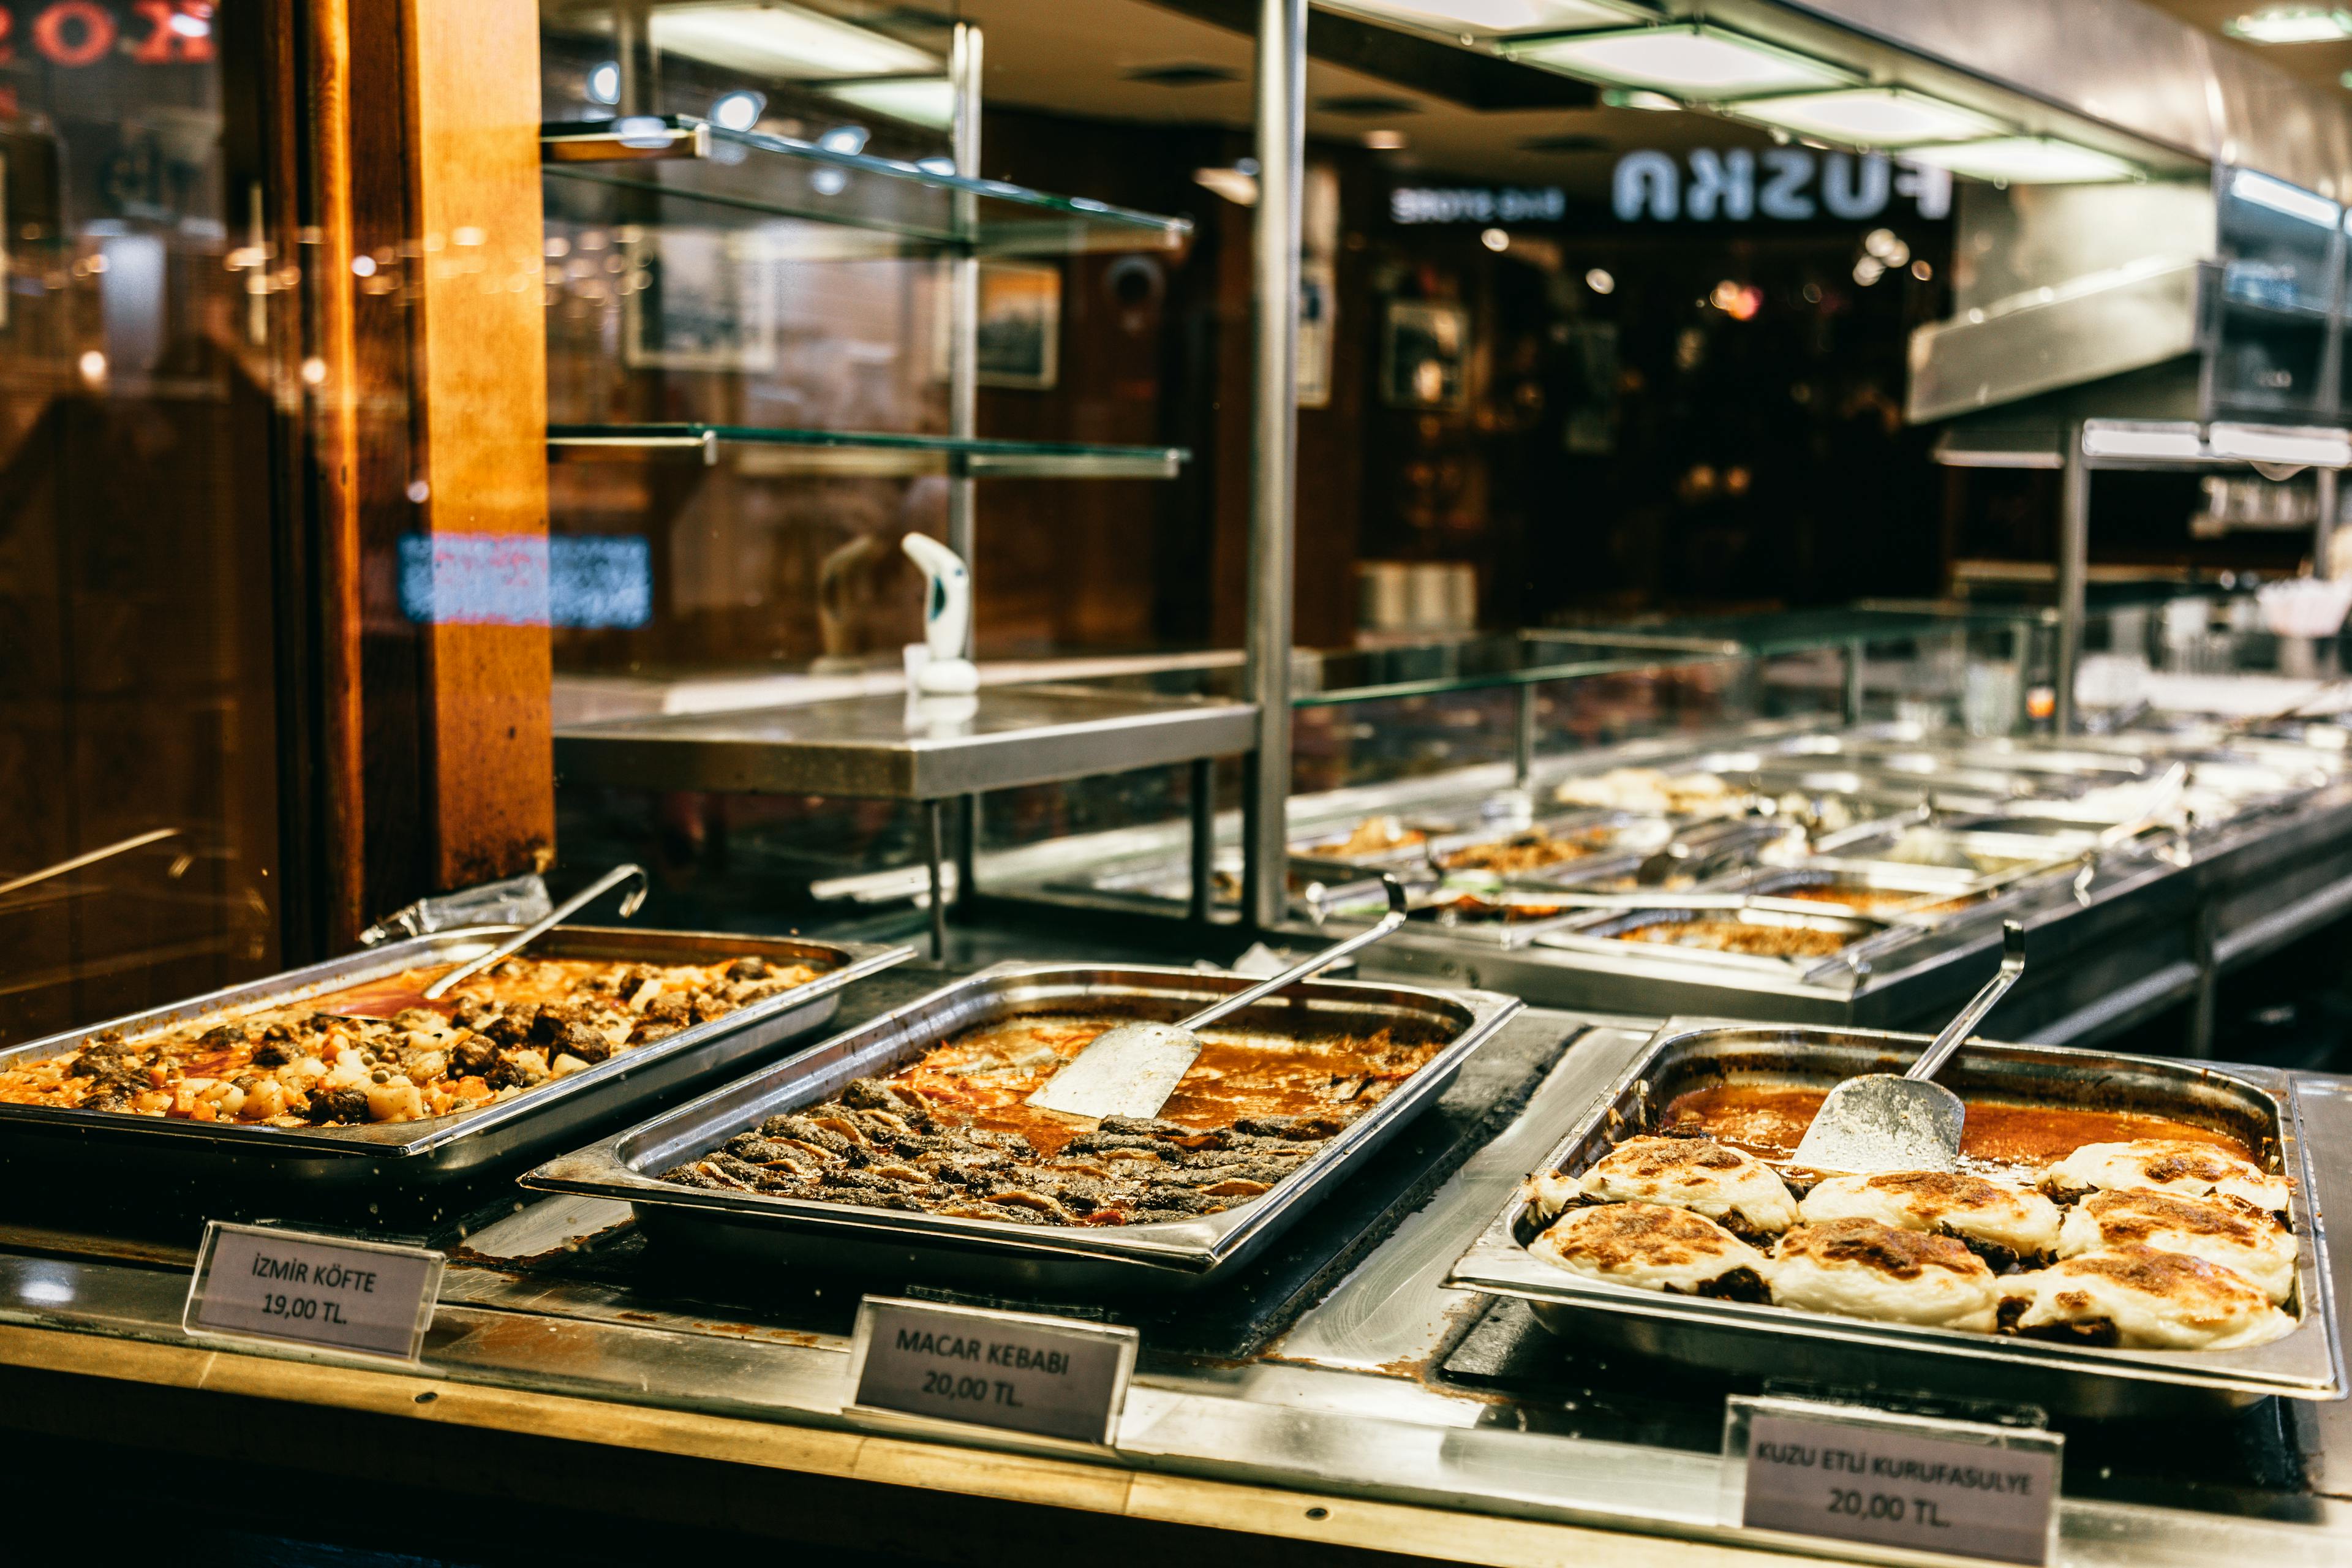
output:
[[[548,628],[421,625],[402,545],[546,541],[536,0],[308,0],[327,947],[555,846]],[[543,559],[539,555],[536,559]]]

